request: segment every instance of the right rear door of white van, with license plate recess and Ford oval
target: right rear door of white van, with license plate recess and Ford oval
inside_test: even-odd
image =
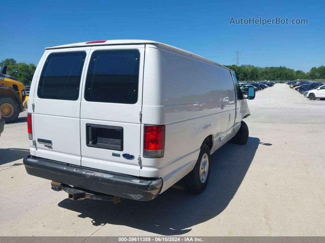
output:
[[[81,98],[81,165],[139,176],[145,45],[93,46]]]

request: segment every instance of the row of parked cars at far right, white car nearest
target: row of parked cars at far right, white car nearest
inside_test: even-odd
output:
[[[325,82],[292,81],[287,84],[291,89],[298,91],[310,100],[325,99]]]

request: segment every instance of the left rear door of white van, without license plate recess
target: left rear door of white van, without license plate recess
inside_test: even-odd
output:
[[[48,50],[34,91],[35,156],[81,164],[81,83],[90,47]]]

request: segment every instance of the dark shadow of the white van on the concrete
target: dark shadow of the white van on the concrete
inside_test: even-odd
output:
[[[93,225],[125,225],[171,236],[191,231],[220,214],[234,197],[260,144],[249,137],[245,146],[225,144],[212,155],[209,185],[200,195],[169,188],[151,201],[123,200],[113,204],[98,200],[62,200],[58,206],[90,218]],[[114,212],[114,213],[112,213]]]

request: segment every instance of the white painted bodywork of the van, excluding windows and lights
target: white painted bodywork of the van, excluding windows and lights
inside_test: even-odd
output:
[[[88,66],[95,61],[91,56],[101,50],[139,52],[136,103],[85,99]],[[86,54],[78,99],[39,98],[38,82],[48,56],[77,51]],[[241,120],[250,115],[246,99],[237,97],[233,78],[234,72],[222,65],[153,41],[110,40],[46,48],[30,90],[30,104],[34,104],[28,107],[32,114],[31,155],[141,178],[162,178],[161,193],[193,169],[207,137],[212,137],[213,153],[234,137]],[[123,151],[88,146],[86,124],[122,127]],[[163,157],[143,156],[145,124],[165,125]],[[38,139],[50,140],[51,148]],[[135,159],[112,156],[115,152],[132,154]]]

